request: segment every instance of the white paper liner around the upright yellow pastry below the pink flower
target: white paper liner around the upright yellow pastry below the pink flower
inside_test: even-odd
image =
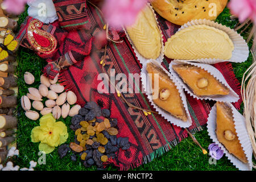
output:
[[[153,7],[150,5],[150,3],[147,3],[147,6],[150,7],[150,9],[152,10],[152,13],[154,13],[155,15],[155,20],[156,20],[156,23],[158,24],[158,28],[159,28],[159,32],[160,32],[160,38],[161,38],[161,44],[162,44],[162,47],[161,47],[161,50],[160,50],[160,55],[158,58],[156,58],[155,60],[159,61],[159,63],[161,63],[164,59],[164,43],[163,43],[163,34],[162,34],[162,30],[159,26],[159,23],[158,23],[158,19],[156,18],[156,14],[155,14],[155,11],[153,9]],[[146,57],[142,56],[141,53],[138,52],[138,50],[136,49],[136,47],[134,46],[133,44],[133,41],[131,40],[129,34],[127,33],[126,29],[123,28],[123,31],[125,31],[125,34],[127,36],[127,39],[129,40],[129,42],[131,43],[131,46],[133,47],[134,49],[134,52],[135,52],[135,55],[136,57],[138,58],[139,62],[142,64],[148,60],[151,60],[151,59],[147,59]]]

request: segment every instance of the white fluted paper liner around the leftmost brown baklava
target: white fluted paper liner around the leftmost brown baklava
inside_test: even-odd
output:
[[[180,97],[181,97],[181,100],[183,102],[183,106],[184,106],[185,111],[187,113],[187,118],[188,118],[187,122],[184,122],[181,119],[174,117],[174,115],[172,115],[172,114],[168,113],[167,111],[161,109],[158,105],[156,105],[154,103],[154,101],[152,100],[153,96],[152,96],[152,94],[150,92],[150,90],[151,90],[150,79],[147,76],[147,64],[148,63],[154,63],[158,67],[162,68],[163,71],[166,72],[167,75],[171,78],[171,80],[174,80],[174,78],[172,77],[172,75],[165,68],[162,67],[162,65],[158,61],[148,60],[148,61],[146,61],[146,62],[144,62],[142,64],[142,69],[141,69],[141,73],[142,73],[141,74],[142,89],[143,89],[143,92],[146,93],[147,98],[150,101],[151,105],[155,108],[155,110],[160,115],[162,115],[162,117],[167,119],[167,121],[169,121],[170,123],[172,123],[172,124],[174,124],[176,126],[179,126],[179,127],[183,127],[183,128],[191,126],[192,125],[192,119],[191,119],[191,115],[189,114],[189,111],[188,111],[187,98],[185,96],[183,88],[179,84],[177,84],[176,82],[174,82],[174,83],[175,83],[177,89],[179,90]]]

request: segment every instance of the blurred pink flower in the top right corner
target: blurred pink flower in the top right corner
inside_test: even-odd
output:
[[[228,7],[240,22],[250,18],[256,23],[256,0],[231,0]]]

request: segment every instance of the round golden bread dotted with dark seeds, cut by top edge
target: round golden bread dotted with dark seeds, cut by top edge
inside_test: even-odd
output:
[[[193,19],[214,20],[228,0],[154,0],[155,11],[168,21],[183,25]]]

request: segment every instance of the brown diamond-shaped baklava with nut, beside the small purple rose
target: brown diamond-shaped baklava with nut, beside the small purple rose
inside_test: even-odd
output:
[[[238,140],[232,109],[223,102],[216,104],[216,135],[218,141],[222,143],[230,154],[233,154],[243,163],[247,163],[245,152]]]

